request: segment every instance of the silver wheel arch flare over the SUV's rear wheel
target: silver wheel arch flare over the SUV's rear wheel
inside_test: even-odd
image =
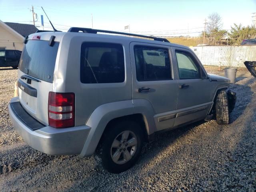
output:
[[[86,125],[91,128],[88,138],[80,153],[80,156],[91,156],[98,146],[105,130],[118,120],[130,119],[139,122],[143,128],[144,135],[155,132],[154,111],[149,102],[126,100],[103,104],[92,112]]]

